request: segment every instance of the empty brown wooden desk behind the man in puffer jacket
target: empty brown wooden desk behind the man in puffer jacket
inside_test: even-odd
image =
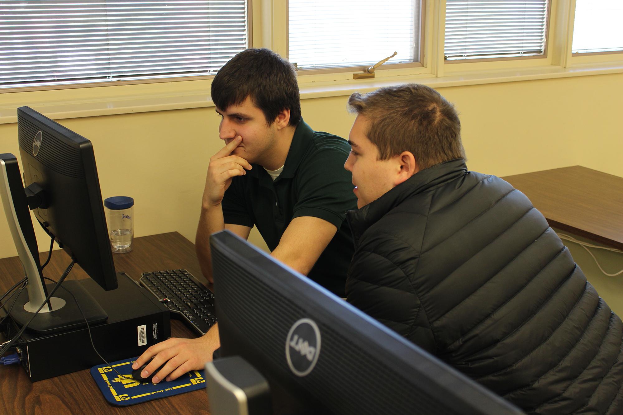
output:
[[[503,177],[549,226],[623,250],[623,178],[582,166]]]

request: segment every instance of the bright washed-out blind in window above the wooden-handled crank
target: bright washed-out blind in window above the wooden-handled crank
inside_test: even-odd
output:
[[[288,58],[298,69],[419,61],[420,1],[289,0]]]

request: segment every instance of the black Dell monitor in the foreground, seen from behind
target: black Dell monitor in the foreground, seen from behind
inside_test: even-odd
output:
[[[268,413],[521,414],[231,232],[213,234],[211,249],[221,356],[239,356],[264,376]]]

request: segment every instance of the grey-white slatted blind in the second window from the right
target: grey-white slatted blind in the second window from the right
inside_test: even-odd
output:
[[[447,0],[445,59],[542,55],[547,16],[548,0]]]

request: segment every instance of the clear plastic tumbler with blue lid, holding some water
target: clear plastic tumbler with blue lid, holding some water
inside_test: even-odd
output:
[[[108,232],[113,252],[130,252],[134,236],[134,199],[114,196],[104,201]]]

